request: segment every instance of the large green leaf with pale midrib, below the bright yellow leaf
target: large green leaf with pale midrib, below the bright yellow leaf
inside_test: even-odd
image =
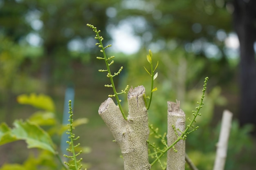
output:
[[[11,135],[17,140],[25,140],[27,148],[41,148],[55,154],[54,144],[51,137],[42,128],[29,121],[16,120]]]

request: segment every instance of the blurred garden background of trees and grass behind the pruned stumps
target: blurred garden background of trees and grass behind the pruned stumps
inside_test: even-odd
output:
[[[118,89],[144,85],[149,95],[146,54],[159,62],[157,91],[148,111],[150,124],[166,131],[167,101],[180,100],[190,117],[209,77],[200,128],[189,135],[186,152],[199,169],[211,170],[224,109],[234,113],[225,170],[256,167],[256,1],[254,0],[0,0],[0,121],[12,126],[38,109],[20,105],[20,94],[43,93],[54,100],[61,122],[65,90],[74,88],[74,119],[89,170],[120,170],[118,146],[98,115],[112,94],[94,32],[112,44],[111,69]],[[126,96],[123,98],[124,108]],[[128,111],[126,111],[128,113]],[[55,137],[60,144],[61,137]],[[152,139],[154,141],[154,139]],[[0,166],[23,163],[24,142],[0,146]],[[159,165],[152,168],[159,169]]]

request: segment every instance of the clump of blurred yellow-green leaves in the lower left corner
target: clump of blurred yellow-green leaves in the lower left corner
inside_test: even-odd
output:
[[[58,160],[61,162],[62,160],[61,155],[58,155],[58,147],[54,144],[54,141],[56,140],[56,135],[59,140],[63,132],[67,131],[69,127],[58,122],[56,115],[54,114],[55,105],[52,98],[46,95],[35,95],[32,93],[30,95],[18,96],[18,102],[20,102],[20,104],[29,104],[41,110],[32,114],[25,121],[15,120],[13,128],[9,128],[4,122],[0,124],[0,145],[2,146],[13,141],[25,140],[27,148],[39,148],[41,150],[38,150],[36,155],[34,155],[35,153],[31,153],[22,165],[6,163],[0,170],[65,169],[64,167],[61,167],[61,163],[58,162]],[[72,127],[86,123],[88,123],[87,118],[79,118],[73,121]],[[76,147],[76,150],[79,149],[90,152],[90,149],[86,147]]]

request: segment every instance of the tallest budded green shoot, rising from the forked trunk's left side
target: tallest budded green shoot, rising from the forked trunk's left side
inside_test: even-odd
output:
[[[119,106],[119,109],[120,109],[120,111],[121,111],[121,113],[122,113],[124,119],[127,120],[127,117],[126,117],[126,115],[124,114],[124,110],[123,110],[123,108],[122,108],[122,106],[121,106],[121,100],[119,99],[118,95],[121,95],[121,94],[126,93],[126,91],[128,90],[128,87],[129,87],[129,86],[127,85],[124,90],[122,90],[121,92],[117,93],[117,90],[116,90],[115,84],[114,84],[114,80],[113,80],[113,77],[115,77],[115,76],[117,76],[117,75],[119,75],[119,74],[121,73],[121,71],[122,71],[122,69],[123,69],[123,66],[121,66],[121,68],[119,69],[119,71],[118,71],[117,73],[114,73],[113,75],[111,74],[110,65],[112,65],[112,64],[114,63],[114,60],[112,60],[112,59],[113,59],[115,56],[107,57],[106,52],[105,52],[105,49],[108,48],[108,47],[110,47],[111,45],[109,44],[109,45],[107,45],[107,46],[104,47],[104,46],[103,46],[103,43],[102,43],[103,37],[101,37],[101,36],[99,35],[99,33],[100,33],[101,31],[100,31],[100,30],[98,31],[98,30],[97,30],[97,27],[95,27],[95,26],[93,26],[93,25],[91,25],[91,24],[87,24],[87,26],[89,26],[90,28],[92,28],[93,31],[96,33],[95,39],[98,39],[98,40],[99,40],[99,42],[96,43],[96,45],[99,46],[99,48],[101,48],[100,51],[101,51],[101,53],[103,53],[103,57],[96,57],[96,58],[99,59],[99,60],[105,60],[105,63],[106,63],[107,69],[103,69],[103,70],[101,69],[101,70],[99,70],[99,72],[108,72],[107,77],[110,78],[111,84],[110,84],[110,85],[109,85],[109,84],[106,84],[105,87],[112,87],[112,88],[113,88],[113,92],[114,92],[114,95],[108,95],[108,97],[116,97],[116,100],[117,100],[117,104],[118,104],[118,106]],[[112,61],[110,61],[110,60],[112,60]],[[110,61],[110,62],[109,62],[109,61]]]

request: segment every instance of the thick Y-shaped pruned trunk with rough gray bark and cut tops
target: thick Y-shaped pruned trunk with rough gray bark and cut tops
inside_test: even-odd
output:
[[[144,94],[144,86],[130,88],[127,121],[111,98],[108,98],[99,107],[99,115],[121,148],[124,157],[124,170],[150,169],[146,142],[149,135],[148,114]]]

